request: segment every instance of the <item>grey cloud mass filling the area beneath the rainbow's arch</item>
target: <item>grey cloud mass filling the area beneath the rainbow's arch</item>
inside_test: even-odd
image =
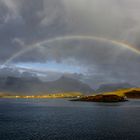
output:
[[[56,61],[66,65],[82,66],[84,81],[92,83],[130,82],[139,83],[140,56],[130,49],[110,42],[100,41],[61,41],[42,44],[40,47],[14,59],[24,62]],[[93,82],[94,81],[94,82]]]

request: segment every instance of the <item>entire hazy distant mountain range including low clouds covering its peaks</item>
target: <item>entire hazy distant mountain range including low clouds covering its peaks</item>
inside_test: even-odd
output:
[[[44,73],[46,74],[46,73]],[[81,92],[85,94],[115,91],[118,89],[134,88],[129,83],[102,84],[95,91],[93,83],[83,80],[82,74],[60,75],[47,72],[44,80],[38,76],[37,71],[30,71],[24,68],[5,67],[0,69],[0,92],[20,94],[43,94],[58,92]],[[53,75],[53,76],[52,76]],[[82,82],[83,81],[83,82]],[[89,86],[90,85],[90,86]],[[93,86],[92,86],[93,85]]]

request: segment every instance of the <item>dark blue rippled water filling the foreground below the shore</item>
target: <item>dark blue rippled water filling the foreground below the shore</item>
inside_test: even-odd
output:
[[[140,100],[0,99],[0,140],[140,140]]]

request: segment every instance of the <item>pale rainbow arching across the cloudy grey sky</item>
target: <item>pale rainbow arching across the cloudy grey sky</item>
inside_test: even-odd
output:
[[[133,47],[133,46],[131,46],[129,44],[123,43],[123,42],[119,42],[119,41],[115,41],[115,40],[111,40],[111,39],[106,39],[106,38],[101,38],[101,37],[96,37],[96,36],[72,35],[72,36],[55,37],[55,38],[51,38],[51,39],[48,39],[48,40],[33,44],[31,46],[26,46],[25,49],[22,49],[18,53],[16,53],[13,56],[11,56],[8,60],[6,60],[3,63],[3,66],[8,65],[15,58],[23,55],[24,53],[26,53],[26,52],[28,52],[28,51],[30,51],[32,49],[40,47],[43,44],[52,43],[52,42],[55,42],[55,41],[74,40],[74,39],[76,39],[76,40],[95,40],[95,41],[101,41],[101,42],[104,42],[104,43],[112,43],[113,45],[126,48],[126,49],[128,49],[128,50],[130,50],[130,51],[132,51],[132,52],[134,52],[134,53],[136,53],[138,55],[140,55],[140,50],[138,50],[137,48],[135,48],[135,47]]]

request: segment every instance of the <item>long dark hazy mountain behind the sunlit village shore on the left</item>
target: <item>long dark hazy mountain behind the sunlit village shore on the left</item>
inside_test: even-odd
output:
[[[88,85],[79,80],[62,76],[56,81],[43,82],[36,77],[0,77],[0,91],[20,94],[43,94],[58,92],[92,93]]]

